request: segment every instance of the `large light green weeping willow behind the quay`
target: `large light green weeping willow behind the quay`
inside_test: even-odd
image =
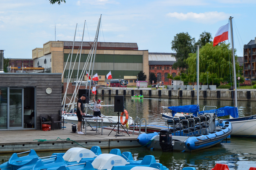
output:
[[[236,51],[236,50],[235,50]],[[196,70],[196,53],[190,53],[186,59],[188,64],[188,73],[194,74]],[[235,56],[235,59],[237,56]],[[213,42],[207,43],[199,50],[199,73],[209,72],[210,74],[216,74],[214,78],[223,79],[230,75],[233,76],[232,67],[232,50],[230,44],[221,43],[213,47]],[[236,63],[236,69],[238,70],[239,64]],[[199,76],[200,78],[200,76]],[[202,81],[201,81],[202,82]],[[205,82],[205,81],[203,81]]]

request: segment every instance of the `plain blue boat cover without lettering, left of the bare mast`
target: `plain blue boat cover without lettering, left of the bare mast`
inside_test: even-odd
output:
[[[172,110],[172,116],[174,116],[177,112],[197,114],[197,112],[199,112],[199,104],[184,105],[184,106],[169,106],[168,109]]]

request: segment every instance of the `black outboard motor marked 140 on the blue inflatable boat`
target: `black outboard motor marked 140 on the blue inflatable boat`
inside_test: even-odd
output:
[[[169,129],[160,130],[159,144],[163,152],[172,151],[172,132]]]

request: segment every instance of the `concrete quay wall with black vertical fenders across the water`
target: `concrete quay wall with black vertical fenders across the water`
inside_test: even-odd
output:
[[[98,96],[124,95],[131,97],[135,94],[143,95],[146,98],[180,98],[196,99],[196,90],[140,90],[140,89],[97,89]],[[234,90],[199,90],[199,99],[206,100],[233,100]],[[238,90],[237,100],[256,101],[256,91]]]

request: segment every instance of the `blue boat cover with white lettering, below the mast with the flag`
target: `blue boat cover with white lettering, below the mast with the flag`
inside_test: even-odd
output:
[[[205,110],[205,111],[201,111],[199,112],[204,114],[204,113],[215,113],[218,117],[220,116],[228,116],[231,115],[233,118],[238,118],[238,109],[237,107],[231,107],[231,106],[224,106],[221,107],[219,109],[213,109],[213,110]]]

